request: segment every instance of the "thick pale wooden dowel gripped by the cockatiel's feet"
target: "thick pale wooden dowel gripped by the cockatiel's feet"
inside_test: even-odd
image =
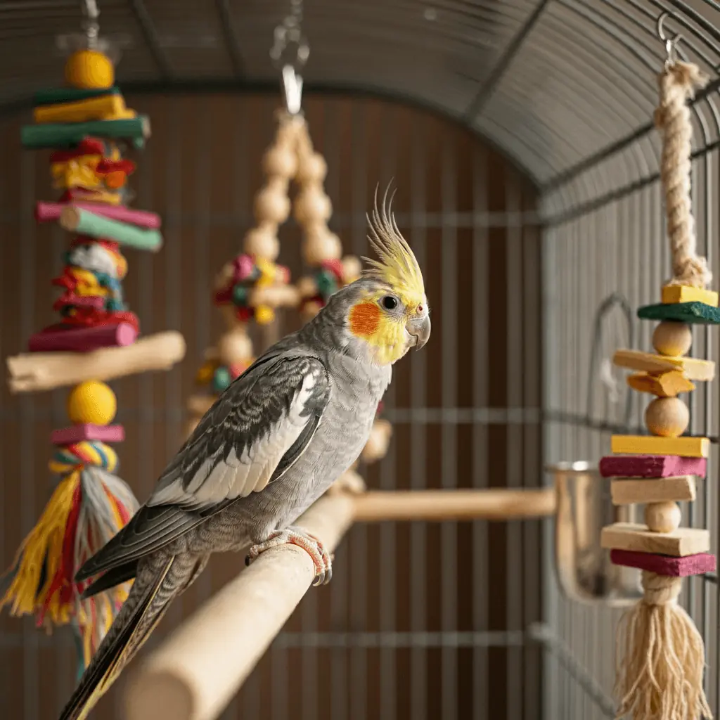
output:
[[[350,498],[321,498],[298,521],[333,552]],[[264,552],[148,657],[130,681],[127,720],[210,720],[228,704],[310,587],[315,567],[294,545]]]

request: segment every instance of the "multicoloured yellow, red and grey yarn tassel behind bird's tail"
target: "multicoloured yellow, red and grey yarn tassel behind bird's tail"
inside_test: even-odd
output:
[[[81,600],[87,582],[73,582],[78,568],[117,533],[138,509],[129,487],[102,467],[85,466],[63,477],[35,528],[24,539],[0,608],[12,615],[34,614],[50,631],[72,624],[81,663],[89,663],[127,598],[130,582]]]

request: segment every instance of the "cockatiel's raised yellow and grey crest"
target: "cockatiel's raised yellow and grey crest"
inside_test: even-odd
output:
[[[376,189],[375,207],[367,216],[367,221],[370,228],[368,240],[378,259],[363,258],[369,265],[363,274],[390,285],[405,305],[420,305],[425,296],[423,273],[408,242],[397,229],[391,206],[392,196],[387,202],[387,190],[382,206],[377,206]]]

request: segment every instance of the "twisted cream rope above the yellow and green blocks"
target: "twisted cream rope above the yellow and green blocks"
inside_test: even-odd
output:
[[[662,133],[660,177],[665,189],[667,234],[674,277],[668,284],[704,288],[711,281],[705,258],[696,253],[695,220],[690,198],[693,125],[687,101],[708,81],[698,66],[668,63],[659,76],[660,106],[655,125]]]

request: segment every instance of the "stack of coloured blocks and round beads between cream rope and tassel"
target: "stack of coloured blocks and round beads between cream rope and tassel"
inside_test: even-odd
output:
[[[616,564],[643,570],[652,566],[658,572],[665,563],[668,573],[682,577],[715,567],[715,558],[707,554],[708,531],[680,528],[677,503],[695,500],[696,477],[705,474],[710,441],[683,435],[690,413],[678,395],[694,390],[693,380],[713,379],[713,362],[687,357],[690,323],[720,320],[720,312],[717,293],[706,290],[667,286],[663,300],[638,312],[641,318],[660,320],[652,336],[656,354],[621,350],[613,359],[616,365],[639,371],[628,378],[630,387],[655,396],[645,411],[651,434],[613,436],[614,455],[600,461],[601,474],[612,478],[613,503],[645,503],[645,526],[616,523],[603,529],[602,543],[612,549]]]

